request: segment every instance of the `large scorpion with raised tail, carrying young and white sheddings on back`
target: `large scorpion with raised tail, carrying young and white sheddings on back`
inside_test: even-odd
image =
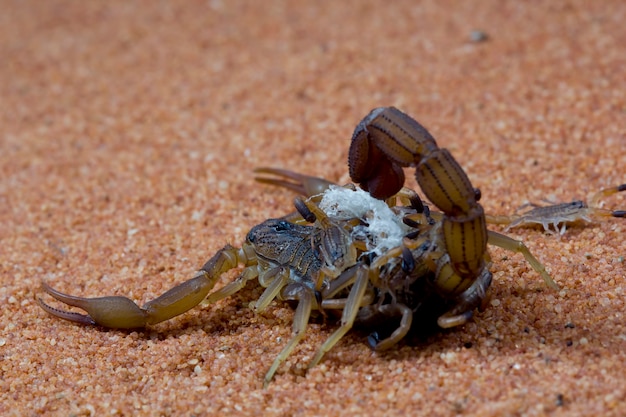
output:
[[[403,167],[440,212],[404,188]],[[292,337],[265,374],[267,385],[304,337],[313,311],[341,312],[339,327],[319,347],[315,366],[353,326],[374,329],[375,350],[402,340],[414,319],[433,315],[439,327],[466,323],[487,297],[492,275],[487,244],[521,253],[552,288],[556,284],[520,241],[488,231],[475,189],[449,151],[418,122],[393,107],[372,110],[356,127],[349,152],[352,184],[262,168],[258,181],[292,189],[296,211],[253,227],[241,248],[220,249],[188,281],[139,307],[121,296],[83,298],[47,284],[44,292],[87,312],[54,308],[62,319],[126,329],[153,325],[200,304],[235,294],[256,279],[265,288],[257,311],[274,299],[297,302]],[[621,190],[620,190],[621,191]],[[239,276],[211,292],[220,276],[243,265]]]

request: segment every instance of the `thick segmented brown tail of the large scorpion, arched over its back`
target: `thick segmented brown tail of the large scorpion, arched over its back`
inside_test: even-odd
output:
[[[408,115],[379,107],[356,127],[348,163],[352,179],[379,199],[402,188],[402,167],[415,167],[424,194],[444,213],[445,254],[437,258],[435,286],[451,295],[469,288],[486,268],[487,226],[480,193],[450,152]]]

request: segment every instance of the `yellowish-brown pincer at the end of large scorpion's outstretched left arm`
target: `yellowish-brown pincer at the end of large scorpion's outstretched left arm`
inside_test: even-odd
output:
[[[126,297],[76,297],[57,291],[46,283],[41,285],[41,289],[58,301],[72,307],[78,307],[88,313],[85,315],[60,310],[46,304],[40,298],[37,299],[37,303],[46,312],[65,320],[116,329],[144,327],[147,323],[146,312]]]

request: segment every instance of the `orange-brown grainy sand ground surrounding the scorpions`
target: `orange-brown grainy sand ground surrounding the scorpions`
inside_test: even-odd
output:
[[[312,323],[267,389],[293,310],[255,314],[254,285],[145,331],[35,302],[42,281],[143,303],[190,278],[291,211],[253,168],[347,182],[378,106],[424,124],[491,214],[626,182],[623,1],[0,9],[0,414],[626,415],[623,219],[511,231],[560,290],[493,249],[488,308],[420,343],[381,354],[349,333],[306,372],[335,328]]]

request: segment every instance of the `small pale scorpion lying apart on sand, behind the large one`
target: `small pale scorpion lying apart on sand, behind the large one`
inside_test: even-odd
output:
[[[593,217],[626,217],[626,210],[609,210],[600,207],[599,201],[603,197],[608,197],[626,191],[626,184],[604,188],[595,193],[589,203],[582,200],[574,200],[569,203],[558,203],[548,206],[538,206],[536,204],[525,204],[519,209],[532,207],[521,214],[512,216],[487,216],[487,222],[492,224],[505,224],[504,229],[510,229],[524,225],[540,224],[549,234],[559,234],[563,236],[567,230],[567,224],[578,220],[591,222]],[[518,209],[518,210],[519,210]],[[561,227],[559,228],[559,224]],[[554,230],[550,229],[550,226]]]

